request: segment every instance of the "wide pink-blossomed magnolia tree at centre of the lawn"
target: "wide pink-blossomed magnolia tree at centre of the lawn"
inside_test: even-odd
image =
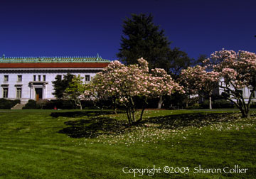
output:
[[[129,124],[142,120],[145,105],[139,119],[135,115],[134,97],[141,97],[146,104],[149,97],[171,95],[175,91],[183,92],[181,86],[171,79],[163,69],[155,68],[149,73],[146,60],[140,58],[139,65],[123,65],[115,60],[98,72],[89,84],[85,95],[95,95],[97,98],[112,97],[114,103],[126,108]]]

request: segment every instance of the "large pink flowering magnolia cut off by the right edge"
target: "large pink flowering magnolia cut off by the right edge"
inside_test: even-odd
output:
[[[210,67],[219,73],[219,88],[223,96],[242,112],[242,117],[250,117],[250,104],[256,89],[256,54],[247,51],[220,50],[210,56]],[[242,89],[250,89],[245,99]]]

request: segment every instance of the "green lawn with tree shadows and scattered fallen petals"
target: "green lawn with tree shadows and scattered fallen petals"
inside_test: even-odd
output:
[[[256,178],[255,146],[256,112],[152,110],[129,127],[111,111],[0,111],[0,178]]]

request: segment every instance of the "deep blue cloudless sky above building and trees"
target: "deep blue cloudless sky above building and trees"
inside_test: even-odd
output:
[[[0,0],[0,55],[97,55],[115,60],[122,22],[152,13],[171,48],[191,58],[215,50],[256,52],[256,1]]]

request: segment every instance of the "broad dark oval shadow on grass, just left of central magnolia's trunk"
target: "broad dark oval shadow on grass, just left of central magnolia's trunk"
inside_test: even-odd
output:
[[[68,127],[58,131],[73,138],[95,138],[102,134],[122,134],[129,125],[125,121],[119,121],[107,117],[93,119],[80,119],[78,121],[66,121]]]

